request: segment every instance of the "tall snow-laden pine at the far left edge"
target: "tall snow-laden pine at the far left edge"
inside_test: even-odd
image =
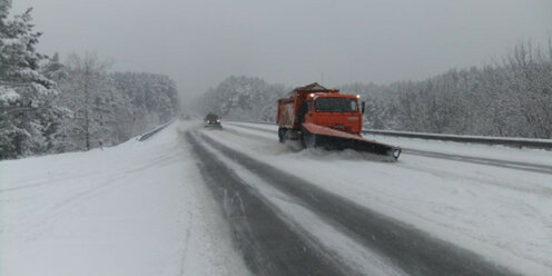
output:
[[[0,6],[0,159],[46,151],[46,136],[61,110],[52,105],[56,82],[40,71],[31,10],[9,19],[11,1]]]

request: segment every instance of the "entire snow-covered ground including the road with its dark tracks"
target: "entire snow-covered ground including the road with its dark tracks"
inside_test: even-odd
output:
[[[0,275],[551,275],[552,152],[294,152],[275,126],[177,121],[106,150],[0,162]],[[430,150],[431,149],[431,150]]]

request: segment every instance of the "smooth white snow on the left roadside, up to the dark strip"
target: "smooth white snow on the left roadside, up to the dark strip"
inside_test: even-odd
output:
[[[0,275],[247,275],[172,124],[149,140],[0,162]]]

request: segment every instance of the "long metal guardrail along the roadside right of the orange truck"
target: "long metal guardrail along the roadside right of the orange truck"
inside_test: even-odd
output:
[[[437,135],[437,134],[420,134],[420,132],[376,130],[376,129],[366,129],[366,130],[363,130],[363,134],[406,137],[406,138],[420,138],[420,139],[430,139],[430,140],[443,140],[443,141],[459,141],[459,142],[472,142],[472,144],[485,144],[485,145],[502,145],[502,146],[516,147],[516,148],[540,148],[540,149],[552,150],[552,139]]]

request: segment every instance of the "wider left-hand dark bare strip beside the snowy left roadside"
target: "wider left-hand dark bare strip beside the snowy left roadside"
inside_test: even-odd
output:
[[[186,134],[205,183],[221,205],[237,247],[254,275],[354,275],[329,253],[292,230],[273,208],[220,160]]]

